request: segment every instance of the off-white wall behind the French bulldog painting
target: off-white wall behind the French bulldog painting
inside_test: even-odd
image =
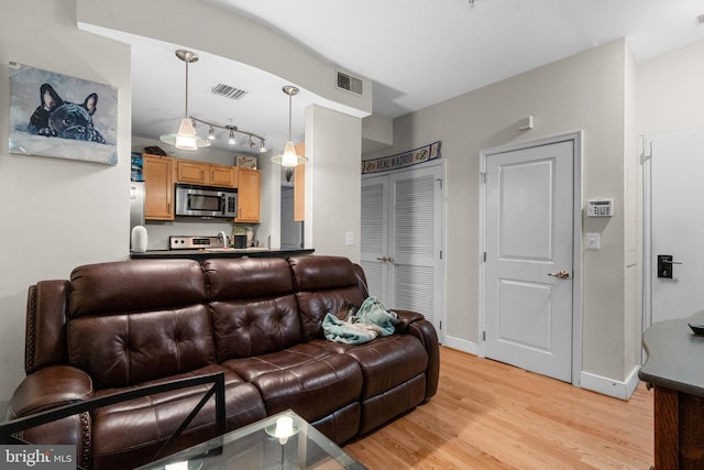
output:
[[[129,250],[130,51],[76,29],[70,0],[7,2],[0,15],[0,402],[24,376],[28,287]],[[117,166],[8,153],[8,62],[118,88]],[[38,105],[38,91],[37,91]],[[0,409],[2,407],[0,406]]]

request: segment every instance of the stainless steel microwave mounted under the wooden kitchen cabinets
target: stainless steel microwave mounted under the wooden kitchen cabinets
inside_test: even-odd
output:
[[[176,215],[234,218],[238,215],[238,190],[176,184]]]

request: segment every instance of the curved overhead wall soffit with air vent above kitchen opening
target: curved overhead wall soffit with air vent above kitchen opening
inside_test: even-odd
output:
[[[194,0],[75,0],[78,21],[198,51],[266,70],[326,98],[330,106],[354,116],[372,112],[372,94],[360,97],[330,84],[334,64],[296,41],[208,2]],[[351,70],[353,72],[353,70]],[[355,74],[359,76],[359,74]],[[372,84],[364,77],[364,89]],[[358,112],[361,111],[361,112]]]

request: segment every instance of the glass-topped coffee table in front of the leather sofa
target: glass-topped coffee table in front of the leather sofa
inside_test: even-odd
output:
[[[366,469],[289,411],[151,462],[141,470]]]

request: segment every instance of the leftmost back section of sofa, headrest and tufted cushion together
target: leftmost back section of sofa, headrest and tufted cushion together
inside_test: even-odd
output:
[[[70,275],[68,362],[97,389],[216,361],[202,270],[193,260],[89,264]]]

